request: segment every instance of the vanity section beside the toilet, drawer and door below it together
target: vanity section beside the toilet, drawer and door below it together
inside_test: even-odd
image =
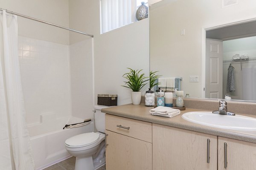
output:
[[[152,170],[152,123],[106,114],[106,169]]]

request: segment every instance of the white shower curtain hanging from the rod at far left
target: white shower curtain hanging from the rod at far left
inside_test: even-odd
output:
[[[17,16],[0,10],[0,170],[34,170],[17,47]]]

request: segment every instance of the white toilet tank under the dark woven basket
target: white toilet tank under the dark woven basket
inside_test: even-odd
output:
[[[109,108],[109,106],[103,106],[103,105],[95,105],[94,106],[94,122],[96,130],[102,133],[105,133],[105,114],[102,113],[101,110],[103,108]]]

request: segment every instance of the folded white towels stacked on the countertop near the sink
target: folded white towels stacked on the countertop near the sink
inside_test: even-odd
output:
[[[151,109],[149,112],[152,115],[164,116],[169,118],[180,114],[180,110],[178,109],[173,109],[173,108],[163,107],[163,106],[158,106],[157,108]]]

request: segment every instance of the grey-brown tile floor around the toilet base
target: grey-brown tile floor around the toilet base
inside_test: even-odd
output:
[[[50,167],[47,167],[44,170],[74,170],[75,163],[76,163],[76,157],[73,156],[69,159],[66,159]],[[98,170],[106,170],[106,165],[104,165],[103,167],[100,167]]]

